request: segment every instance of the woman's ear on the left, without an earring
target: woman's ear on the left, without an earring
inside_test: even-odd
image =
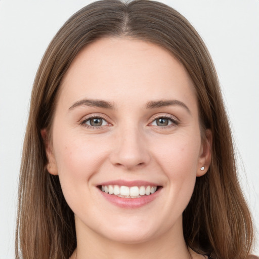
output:
[[[47,170],[52,175],[58,175],[57,163],[56,163],[56,159],[55,159],[55,156],[54,156],[54,153],[53,153],[52,145],[51,145],[50,140],[48,138],[47,129],[44,128],[44,129],[40,130],[40,134],[41,134],[41,137],[42,137],[43,142],[44,142],[46,156],[47,156],[47,159],[48,159]]]

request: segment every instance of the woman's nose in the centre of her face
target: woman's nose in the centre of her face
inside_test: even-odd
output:
[[[138,128],[123,128],[116,136],[111,163],[117,167],[134,170],[150,162],[145,136]]]

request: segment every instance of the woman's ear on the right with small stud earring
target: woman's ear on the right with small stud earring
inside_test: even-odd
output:
[[[211,130],[206,130],[205,138],[201,143],[200,156],[197,163],[197,174],[196,174],[197,177],[205,175],[208,170],[208,167],[211,162],[211,146],[212,146],[212,133],[211,133]]]

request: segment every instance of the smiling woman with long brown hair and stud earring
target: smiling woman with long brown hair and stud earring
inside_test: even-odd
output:
[[[208,51],[174,9],[93,3],[31,96],[17,258],[248,258],[252,222]]]

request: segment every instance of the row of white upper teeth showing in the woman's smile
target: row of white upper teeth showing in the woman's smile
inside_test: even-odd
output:
[[[141,198],[155,193],[161,186],[119,186],[119,185],[101,185],[99,189],[107,194],[115,195],[121,198]]]

